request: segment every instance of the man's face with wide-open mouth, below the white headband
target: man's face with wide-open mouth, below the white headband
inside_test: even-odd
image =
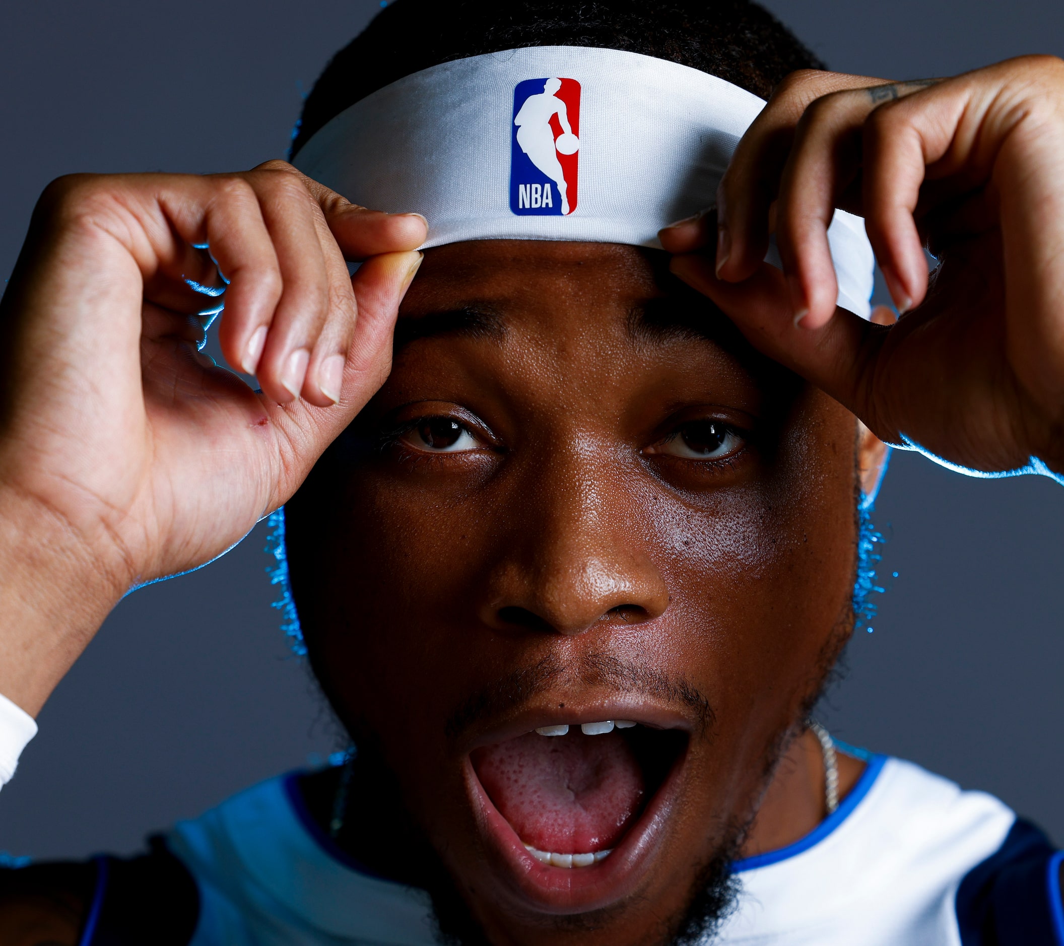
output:
[[[660,252],[426,254],[289,543],[315,669],[493,942],[671,933],[848,633],[854,450]]]

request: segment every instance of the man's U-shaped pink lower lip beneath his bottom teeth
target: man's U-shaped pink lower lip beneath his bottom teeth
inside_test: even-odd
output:
[[[495,807],[466,757],[465,777],[487,857],[525,909],[553,914],[586,913],[636,893],[665,841],[666,826],[680,794],[688,748],[672,764],[639,819],[610,857],[588,867],[551,867],[525,848]]]

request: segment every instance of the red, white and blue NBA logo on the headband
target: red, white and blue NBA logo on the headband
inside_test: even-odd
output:
[[[580,83],[526,79],[514,89],[510,210],[565,216],[577,209]]]

